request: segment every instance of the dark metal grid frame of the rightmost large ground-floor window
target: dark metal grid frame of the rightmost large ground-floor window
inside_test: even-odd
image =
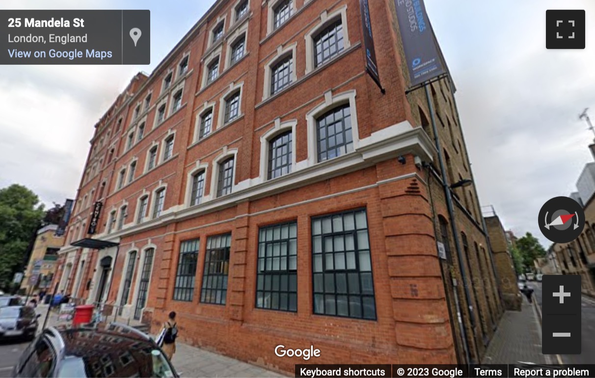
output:
[[[363,213],[364,218],[358,220],[359,213]],[[353,221],[353,229],[350,229],[350,225],[346,223],[347,217],[351,217]],[[336,218],[340,221],[340,227],[336,224]],[[325,221],[328,220],[328,221]],[[320,221],[320,233],[317,230],[317,221]],[[364,222],[364,227],[360,227],[359,222]],[[374,288],[374,274],[373,274],[373,263],[372,263],[372,252],[371,252],[371,245],[369,242],[369,220],[368,220],[368,212],[367,208],[357,208],[353,210],[346,210],[340,211],[337,213],[331,214],[324,214],[324,215],[317,215],[315,217],[311,217],[311,253],[312,253],[312,313],[315,315],[324,315],[324,316],[333,316],[333,317],[341,317],[341,318],[356,318],[360,320],[378,320],[378,309],[377,304],[375,301],[376,290]],[[325,232],[325,223],[327,224],[326,227],[330,227],[330,232]],[[340,230],[334,230],[334,228],[340,228]],[[359,240],[358,234],[362,233],[361,240]],[[363,233],[365,233],[365,238]],[[351,238],[346,238],[346,236],[351,236]],[[320,238],[320,245],[317,243],[317,238]],[[331,238],[331,252],[325,251],[327,248],[328,239]],[[348,249],[348,241],[352,239],[353,242],[353,250]],[[341,243],[336,242],[339,240],[343,240],[343,249],[339,246]],[[362,248],[360,248],[360,243],[362,243]],[[367,247],[367,248],[366,248]],[[318,251],[320,248],[320,252]],[[349,258],[347,257],[348,253],[353,253],[353,262],[352,267],[349,267]],[[368,255],[368,260],[365,260],[365,255]],[[337,259],[337,255],[339,255],[339,259]],[[340,259],[341,255],[343,256],[343,260]],[[318,258],[320,256],[320,258]],[[328,256],[331,256],[329,259]],[[330,260],[330,261],[329,261]],[[336,267],[335,264],[343,263],[340,267]],[[320,269],[317,268],[317,263],[320,263]],[[332,263],[332,268],[328,268],[327,265]],[[365,270],[362,271],[362,263],[365,264]],[[330,277],[332,276],[332,280]],[[320,279],[318,279],[320,277]],[[337,279],[337,277],[341,277],[342,279]],[[328,280],[327,280],[328,279]],[[318,282],[317,282],[318,281]],[[337,290],[337,283],[343,281],[345,283],[345,289],[343,292],[339,292]],[[365,284],[368,285],[368,292],[364,292]],[[352,287],[352,285],[357,285],[357,288]],[[321,296],[322,298],[322,311],[317,311],[317,296]],[[328,299],[325,298],[326,296],[331,296],[329,299],[333,299],[334,296],[334,311],[327,311]],[[347,310],[347,315],[339,314],[339,296],[345,297],[346,306],[344,310]],[[359,301],[356,303],[354,300],[353,302],[350,298],[355,297],[358,298]],[[365,299],[368,300],[365,300]],[[371,301],[370,299],[371,298]],[[354,304],[355,309],[358,308],[359,305],[359,316],[356,314],[352,314],[352,311],[355,311],[352,308],[352,304]],[[373,309],[373,316],[366,316],[365,308],[372,307]],[[333,313],[334,312],[334,313]],[[369,315],[369,314],[368,314]]]

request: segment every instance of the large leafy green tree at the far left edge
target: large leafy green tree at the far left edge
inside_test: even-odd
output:
[[[0,288],[23,269],[27,247],[44,217],[39,197],[22,185],[0,189]]]

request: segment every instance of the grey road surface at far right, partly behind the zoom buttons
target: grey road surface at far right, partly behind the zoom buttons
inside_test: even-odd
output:
[[[541,282],[531,282],[531,285],[535,289],[534,295],[541,308]],[[595,363],[595,299],[583,295],[581,305],[581,354],[561,355],[563,364]]]

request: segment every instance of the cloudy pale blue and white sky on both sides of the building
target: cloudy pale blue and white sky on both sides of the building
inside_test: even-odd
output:
[[[151,65],[4,65],[0,68],[0,188],[19,183],[47,205],[74,198],[93,125],[138,71],[150,73],[214,0],[3,0],[0,9],[151,10]],[[539,231],[550,198],[569,195],[595,121],[595,2],[425,0],[455,82],[480,202],[506,229]],[[547,50],[548,9],[586,10],[584,50]],[[374,22],[374,20],[372,20]],[[108,78],[108,80],[106,80]],[[486,208],[486,211],[489,209]]]

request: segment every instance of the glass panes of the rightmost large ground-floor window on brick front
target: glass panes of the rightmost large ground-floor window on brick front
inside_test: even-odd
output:
[[[315,314],[376,318],[365,217],[365,210],[356,210],[312,219]]]

